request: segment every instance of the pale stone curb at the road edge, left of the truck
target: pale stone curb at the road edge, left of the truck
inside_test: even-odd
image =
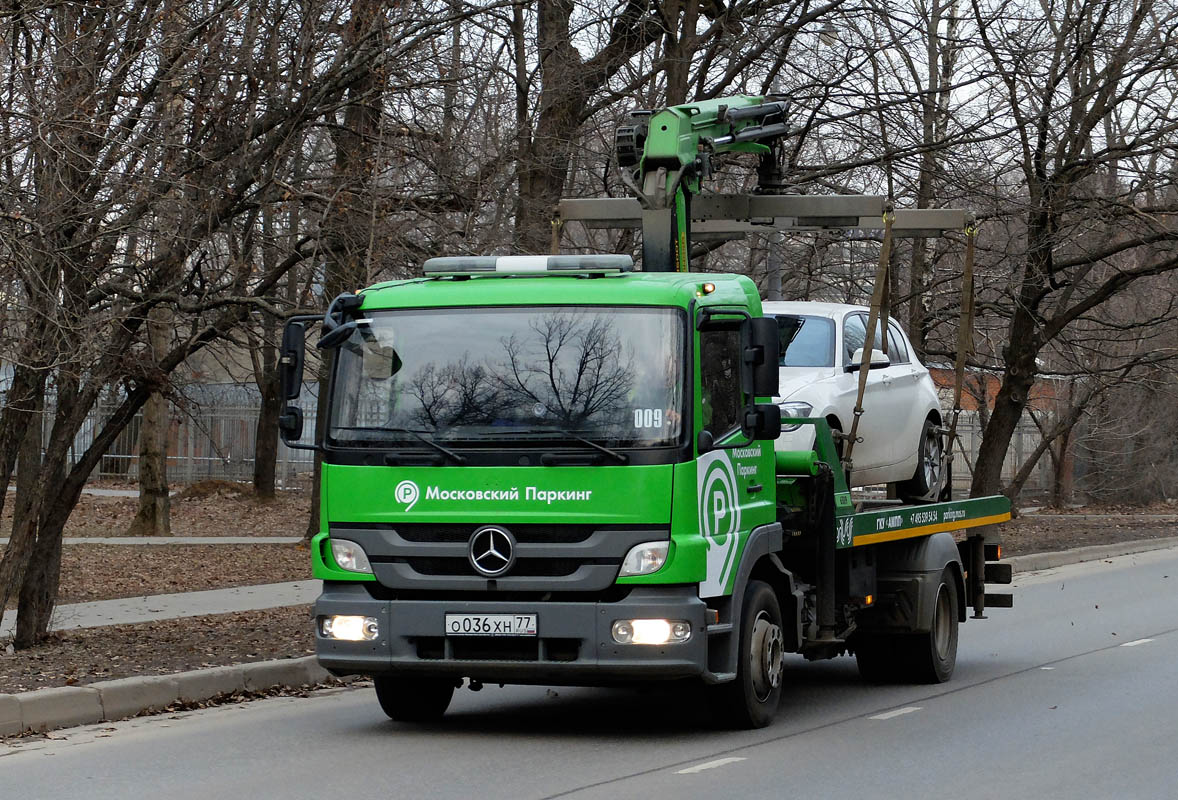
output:
[[[315,686],[331,676],[313,655],[0,694],[0,736],[135,716],[234,692]]]

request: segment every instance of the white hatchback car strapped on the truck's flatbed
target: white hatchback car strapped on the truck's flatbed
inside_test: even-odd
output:
[[[859,368],[867,335],[868,309],[841,303],[768,302],[766,317],[781,331],[779,396],[782,434],[777,450],[814,447],[810,425],[790,427],[788,417],[825,418],[843,434],[854,421]],[[941,494],[941,409],[937,388],[908,337],[888,323],[887,353],[876,324],[872,369],[863,394],[863,415],[852,450],[853,487],[894,483],[909,502],[933,502]]]

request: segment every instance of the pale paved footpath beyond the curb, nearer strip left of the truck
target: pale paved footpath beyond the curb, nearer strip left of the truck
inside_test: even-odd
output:
[[[322,581],[292,581],[290,583],[243,586],[233,589],[183,591],[173,595],[147,595],[58,606],[53,611],[49,630],[100,628],[108,624],[132,624],[153,620],[176,620],[186,616],[303,606],[315,602],[322,587]],[[2,622],[0,622],[0,639],[12,634],[15,626],[16,611],[5,611]]]

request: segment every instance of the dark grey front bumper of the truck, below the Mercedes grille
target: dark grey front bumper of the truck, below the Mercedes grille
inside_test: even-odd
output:
[[[472,677],[484,682],[608,686],[702,675],[706,606],[694,586],[634,587],[616,602],[377,600],[360,583],[324,582],[315,603],[316,653],[336,675]],[[327,639],[319,621],[373,617],[373,641]],[[446,614],[535,614],[536,636],[445,636]],[[618,644],[616,620],[686,620],[691,636],[673,644]]]

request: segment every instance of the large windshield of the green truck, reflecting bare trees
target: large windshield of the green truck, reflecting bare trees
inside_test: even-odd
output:
[[[503,308],[368,313],[339,349],[336,444],[680,438],[676,309]]]

